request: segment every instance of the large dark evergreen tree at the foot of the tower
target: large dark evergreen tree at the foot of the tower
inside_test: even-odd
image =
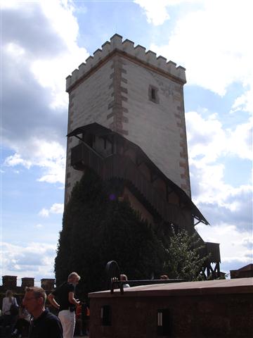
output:
[[[126,201],[115,197],[122,182],[103,182],[86,170],[72,190],[63,215],[55,261],[60,284],[76,270],[82,276],[83,295],[103,289],[105,265],[115,260],[129,279],[150,278],[160,273],[164,260],[162,244],[146,221]]]

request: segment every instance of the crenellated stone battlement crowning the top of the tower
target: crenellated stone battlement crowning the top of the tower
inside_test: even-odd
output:
[[[105,60],[110,54],[115,51],[128,56],[133,61],[141,61],[146,66],[154,68],[161,71],[171,77],[174,77],[175,80],[178,80],[181,83],[186,83],[186,72],[185,68],[179,65],[176,67],[176,63],[172,61],[167,62],[167,58],[163,56],[158,56],[153,51],[146,51],[145,47],[134,46],[134,42],[129,39],[125,39],[122,42],[122,36],[115,34],[110,38],[110,42],[105,42],[102,46],[102,49],[97,49],[93,56],[89,56],[86,59],[85,63],[81,63],[78,69],[75,69],[72,72],[72,75],[67,76],[66,78],[66,91],[69,92],[70,89],[81,80],[82,77],[87,75],[93,68],[96,68],[101,62]]]

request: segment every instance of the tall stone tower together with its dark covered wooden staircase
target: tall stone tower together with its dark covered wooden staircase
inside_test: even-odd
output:
[[[209,224],[190,197],[185,69],[114,35],[67,77],[70,106],[65,203],[86,170],[108,182],[148,223],[190,234]],[[109,197],[110,198],[110,197]],[[199,236],[199,235],[198,235]],[[207,277],[219,277],[219,244],[201,237]],[[215,264],[215,266],[213,266]]]

